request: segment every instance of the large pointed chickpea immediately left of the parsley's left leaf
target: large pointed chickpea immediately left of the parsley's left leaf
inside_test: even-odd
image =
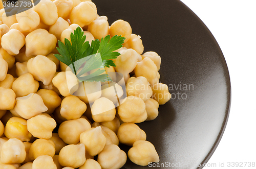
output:
[[[45,0],[51,2],[50,0]],[[43,2],[43,1],[40,1]],[[38,5],[36,5],[37,7]],[[55,5],[54,5],[55,6]],[[50,12],[51,13],[51,12]],[[45,29],[36,29],[30,32],[26,38],[26,56],[48,55],[56,47],[57,38]],[[45,43],[47,41],[47,43]]]

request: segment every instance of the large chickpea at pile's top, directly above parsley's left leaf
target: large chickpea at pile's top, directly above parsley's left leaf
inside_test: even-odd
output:
[[[71,10],[69,19],[71,23],[84,27],[96,18],[96,14],[97,10],[95,10],[90,2],[81,2]]]

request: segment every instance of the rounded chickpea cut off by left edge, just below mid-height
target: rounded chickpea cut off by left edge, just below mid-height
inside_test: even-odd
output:
[[[13,109],[16,103],[16,95],[12,89],[0,87],[0,110]]]

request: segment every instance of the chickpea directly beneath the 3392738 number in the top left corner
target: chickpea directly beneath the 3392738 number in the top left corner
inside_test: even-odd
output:
[[[33,9],[16,14],[16,19],[20,29],[25,32],[34,31],[40,23],[40,17]]]

